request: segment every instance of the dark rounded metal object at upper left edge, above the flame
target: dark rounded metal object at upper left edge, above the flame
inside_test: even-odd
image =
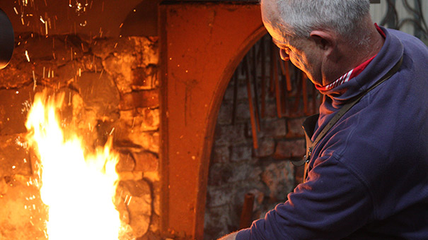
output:
[[[11,20],[0,9],[0,69],[5,68],[11,60],[15,35]]]

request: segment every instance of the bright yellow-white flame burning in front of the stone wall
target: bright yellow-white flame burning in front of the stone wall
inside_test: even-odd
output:
[[[119,239],[120,215],[113,203],[117,155],[104,148],[87,153],[76,133],[63,131],[57,112],[64,94],[35,95],[25,123],[28,142],[40,159],[40,195],[48,206],[50,240]]]

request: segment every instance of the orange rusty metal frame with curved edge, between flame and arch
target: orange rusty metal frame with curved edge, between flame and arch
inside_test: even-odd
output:
[[[266,34],[255,3],[159,6],[161,230],[203,239],[209,156],[229,80]]]

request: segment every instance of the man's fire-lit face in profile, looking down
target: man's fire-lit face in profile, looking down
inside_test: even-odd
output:
[[[320,71],[321,58],[316,44],[309,39],[293,39],[285,36],[282,20],[277,10],[276,0],[262,0],[262,20],[274,44],[279,47],[279,54],[284,61],[290,60],[316,84],[322,83]]]

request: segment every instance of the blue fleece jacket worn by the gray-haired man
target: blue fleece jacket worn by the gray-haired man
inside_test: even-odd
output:
[[[388,72],[314,148],[308,178],[237,240],[428,239],[428,49],[386,30],[357,77],[326,92],[312,140],[350,98]]]

